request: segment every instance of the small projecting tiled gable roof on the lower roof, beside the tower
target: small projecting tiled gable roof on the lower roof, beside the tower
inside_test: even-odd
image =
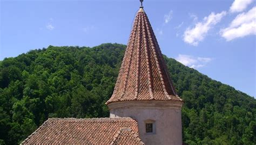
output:
[[[110,144],[126,144],[127,142],[129,142],[129,144],[144,144],[142,140],[139,139],[138,134],[133,132],[131,128],[121,128],[120,131],[114,135],[114,139]]]

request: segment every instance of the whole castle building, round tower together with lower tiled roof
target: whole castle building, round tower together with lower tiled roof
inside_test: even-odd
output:
[[[143,6],[106,105],[110,118],[51,118],[21,144],[182,144],[183,100]]]

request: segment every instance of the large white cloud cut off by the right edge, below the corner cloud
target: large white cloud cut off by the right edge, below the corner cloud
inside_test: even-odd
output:
[[[256,35],[256,6],[246,13],[238,14],[230,26],[220,30],[220,34],[226,41],[242,38],[246,35]]]

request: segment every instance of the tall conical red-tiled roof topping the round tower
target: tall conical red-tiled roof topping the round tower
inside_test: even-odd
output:
[[[156,36],[143,8],[134,20],[112,97],[106,104],[126,100],[182,101],[169,77]]]

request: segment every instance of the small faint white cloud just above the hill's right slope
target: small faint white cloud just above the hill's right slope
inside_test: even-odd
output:
[[[176,60],[190,68],[201,68],[204,67],[208,62],[212,61],[210,57],[194,57],[191,55],[179,54]]]

